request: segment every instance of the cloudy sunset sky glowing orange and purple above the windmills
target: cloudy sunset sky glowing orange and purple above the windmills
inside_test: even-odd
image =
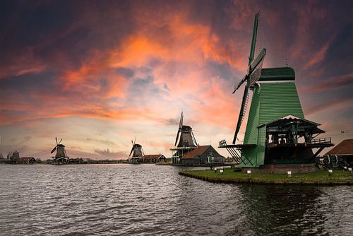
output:
[[[126,159],[136,137],[169,157],[181,112],[201,145],[231,143],[258,11],[263,67],[293,67],[305,118],[353,138],[352,4],[1,1],[0,153],[45,160],[58,137],[71,158]]]

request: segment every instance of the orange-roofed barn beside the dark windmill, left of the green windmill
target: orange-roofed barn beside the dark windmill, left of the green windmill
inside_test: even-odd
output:
[[[209,163],[224,163],[225,157],[220,155],[213,146],[198,146],[181,158],[184,165],[205,165]]]

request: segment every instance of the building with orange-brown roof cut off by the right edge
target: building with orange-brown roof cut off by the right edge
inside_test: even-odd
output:
[[[340,142],[335,148],[328,151],[325,156],[330,158],[330,161],[333,160],[335,162],[335,159],[338,158],[353,166],[353,138]]]

